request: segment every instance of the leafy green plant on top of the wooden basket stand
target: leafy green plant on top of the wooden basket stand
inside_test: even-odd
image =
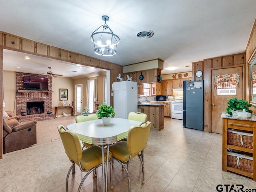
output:
[[[237,98],[229,99],[227,103],[228,107],[226,108],[226,113],[232,115],[232,111],[242,111],[243,109],[245,112],[252,113],[252,110],[249,110],[249,107],[252,106],[249,102],[246,100],[238,100]]]

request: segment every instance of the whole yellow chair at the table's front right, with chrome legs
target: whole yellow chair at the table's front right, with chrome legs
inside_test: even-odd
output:
[[[132,158],[138,156],[140,158],[140,162],[142,164],[142,184],[145,183],[145,175],[144,175],[144,158],[143,152],[146,148],[148,142],[148,136],[150,132],[151,122],[145,122],[142,125],[132,126],[128,130],[128,137],[127,141],[120,141],[112,144],[109,147],[109,150],[112,153],[112,158],[120,162],[124,170],[126,171],[128,177],[128,190],[130,192],[130,176],[128,173],[127,168],[124,164],[128,165]],[[112,166],[111,166],[111,173],[110,173],[110,184],[111,189],[113,189],[112,184]]]

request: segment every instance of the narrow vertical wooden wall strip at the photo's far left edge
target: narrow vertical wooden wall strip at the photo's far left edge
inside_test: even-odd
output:
[[[1,117],[1,121],[0,121],[0,159],[3,158],[3,48],[2,46],[0,46],[0,98],[1,98],[1,102],[0,102],[0,117]]]

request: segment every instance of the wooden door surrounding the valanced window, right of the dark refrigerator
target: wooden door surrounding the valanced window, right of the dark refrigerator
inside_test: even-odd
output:
[[[213,77],[220,74],[240,73],[239,88],[235,95],[218,95],[218,89],[213,89]],[[230,98],[243,99],[243,67],[212,70],[212,132],[222,134],[222,112],[226,112],[227,101]]]

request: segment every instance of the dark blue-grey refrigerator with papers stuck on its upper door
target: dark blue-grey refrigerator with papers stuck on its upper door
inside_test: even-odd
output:
[[[204,130],[204,81],[183,81],[183,127]]]

